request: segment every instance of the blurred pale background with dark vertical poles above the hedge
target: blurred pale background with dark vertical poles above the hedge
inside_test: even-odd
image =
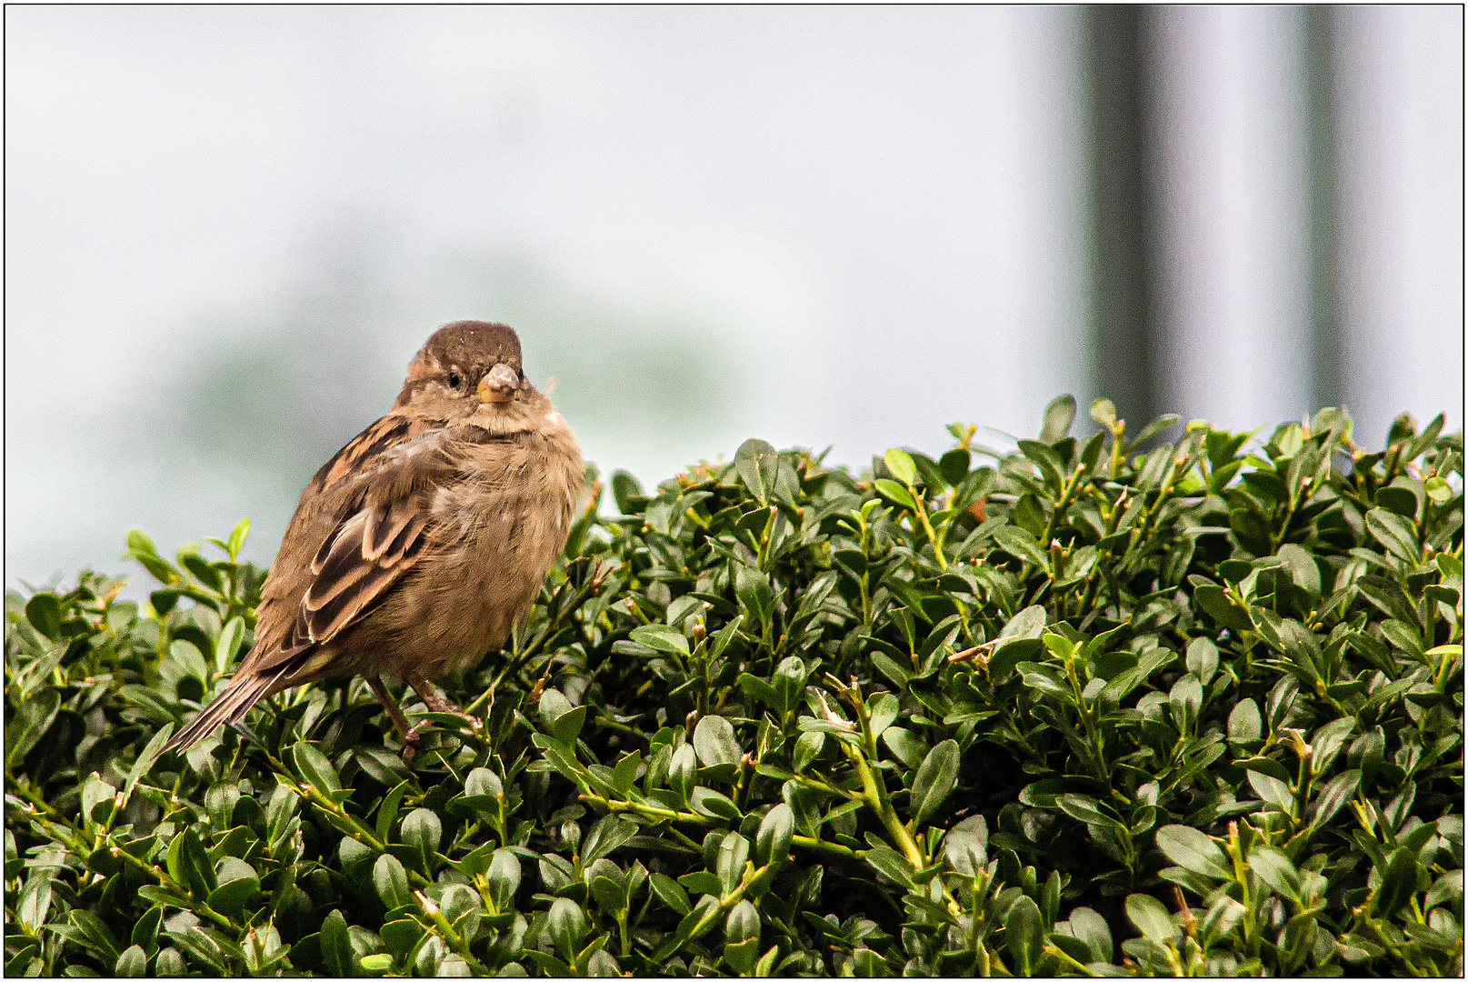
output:
[[[1061,392],[1462,426],[1461,6],[4,26],[7,586],[241,515],[269,562],[462,317],[647,484],[747,436],[998,446]]]

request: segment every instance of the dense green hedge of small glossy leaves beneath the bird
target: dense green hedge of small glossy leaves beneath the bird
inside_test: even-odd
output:
[[[411,769],[361,680],[160,754],[247,523],[7,594],[7,972],[1461,973],[1462,434],[1073,417],[615,474]]]

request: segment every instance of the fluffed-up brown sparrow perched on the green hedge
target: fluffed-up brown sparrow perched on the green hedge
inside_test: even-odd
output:
[[[435,712],[461,712],[430,680],[509,636],[565,546],[580,489],[575,434],[524,377],[515,332],[477,320],[436,330],[388,415],[305,486],[254,649],[166,749],[188,749],[264,696],[361,675],[411,759],[417,728],[383,677]]]

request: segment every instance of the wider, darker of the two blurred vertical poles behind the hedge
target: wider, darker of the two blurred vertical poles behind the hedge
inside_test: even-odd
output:
[[[1092,173],[1092,365],[1097,392],[1132,432],[1161,412],[1151,141],[1147,106],[1151,13],[1086,7]]]

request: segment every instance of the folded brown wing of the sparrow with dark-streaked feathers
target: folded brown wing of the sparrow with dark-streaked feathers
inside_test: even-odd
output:
[[[269,633],[279,641],[260,649],[254,671],[304,661],[418,562],[429,542],[433,496],[458,470],[449,452],[452,440],[445,427],[386,415],[311,479],[285,536],[294,555],[283,546],[277,570],[272,570],[283,584],[277,596],[267,597],[275,600],[269,611],[275,622],[267,625],[275,630]],[[308,558],[307,549],[317,543],[314,558]]]

